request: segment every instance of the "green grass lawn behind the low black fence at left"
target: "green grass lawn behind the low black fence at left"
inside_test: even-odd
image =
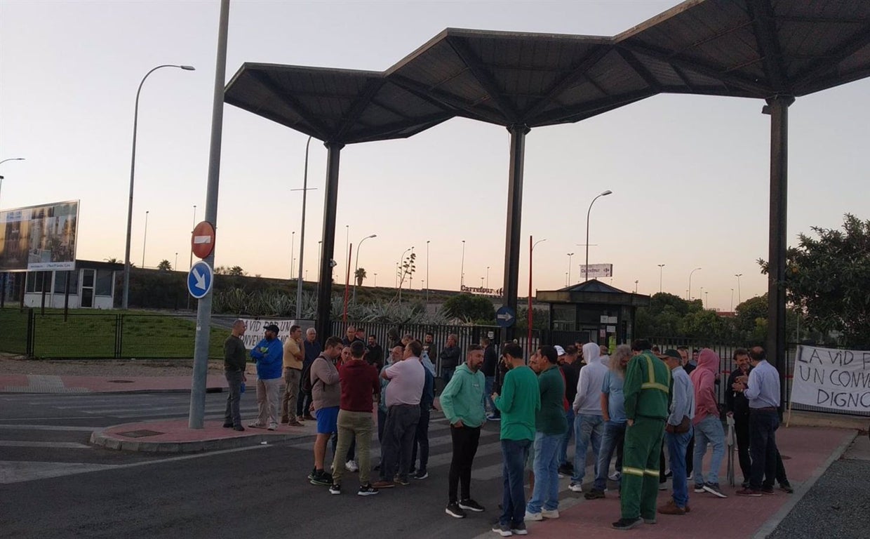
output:
[[[36,312],[33,355],[37,358],[191,358],[196,322],[192,316],[132,311],[70,310],[64,321],[59,309]],[[228,331],[211,327],[209,357],[222,358]],[[27,311],[0,311],[0,351],[26,351]],[[119,342],[118,342],[119,340]]]

